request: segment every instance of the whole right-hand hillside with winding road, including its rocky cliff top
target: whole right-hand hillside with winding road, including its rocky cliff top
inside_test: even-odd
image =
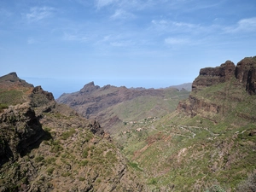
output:
[[[203,68],[174,113],[113,138],[152,190],[255,191],[255,77],[256,57]]]

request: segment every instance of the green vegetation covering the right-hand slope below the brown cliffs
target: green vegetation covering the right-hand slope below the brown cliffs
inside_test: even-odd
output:
[[[251,134],[255,132],[256,96],[229,83],[207,87],[193,96],[217,103],[222,110],[202,110],[193,118],[170,113],[154,121],[137,119],[135,124],[129,119],[119,128],[122,132],[113,137],[130,160],[129,166],[141,177],[147,175],[148,184],[155,190],[168,191],[172,183],[175,191],[235,191],[247,172],[256,171],[252,150],[256,136]],[[212,180],[218,184],[212,185]]]

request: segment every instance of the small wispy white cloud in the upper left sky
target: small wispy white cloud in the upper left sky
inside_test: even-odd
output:
[[[26,19],[29,21],[43,20],[53,14],[54,8],[50,7],[33,7],[30,12],[26,14]]]

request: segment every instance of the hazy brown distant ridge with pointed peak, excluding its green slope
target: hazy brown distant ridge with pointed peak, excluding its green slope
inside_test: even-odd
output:
[[[106,85],[99,87],[93,82],[85,84],[78,92],[64,94],[56,101],[65,103],[85,118],[96,118],[102,110],[120,102],[132,100],[139,96],[165,96],[164,90],[154,89],[127,89]]]

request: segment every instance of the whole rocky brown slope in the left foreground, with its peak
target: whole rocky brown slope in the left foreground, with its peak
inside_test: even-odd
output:
[[[0,78],[0,191],[144,191],[95,120],[16,73]]]

